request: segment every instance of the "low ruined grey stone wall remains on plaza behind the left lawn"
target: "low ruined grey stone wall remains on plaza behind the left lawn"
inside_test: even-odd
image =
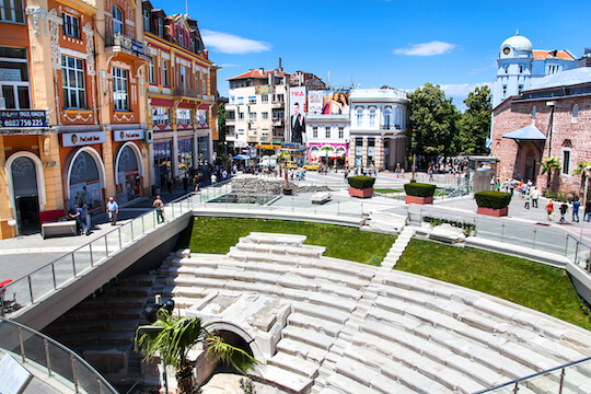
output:
[[[288,182],[293,193],[331,192],[327,186],[298,185]],[[282,177],[266,177],[262,175],[239,175],[232,177],[232,192],[237,194],[269,194],[280,195],[283,193],[285,179]]]

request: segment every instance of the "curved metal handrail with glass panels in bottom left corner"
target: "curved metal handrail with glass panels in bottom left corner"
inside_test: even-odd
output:
[[[72,368],[72,380],[70,381],[72,384],[73,384],[73,392],[76,393],[79,393],[80,392],[80,389],[79,389],[79,381],[77,379],[77,369],[76,369],[76,363],[73,362],[73,360],[78,361],[80,364],[82,364],[84,368],[86,368],[93,375],[94,375],[94,379],[95,379],[95,386],[99,389],[100,387],[100,384],[103,384],[104,387],[109,392],[109,393],[113,393],[113,394],[118,394],[117,390],[115,390],[115,387],[113,387],[111,385],[111,383],[108,383],[108,381],[103,378],[94,368],[92,368],[91,364],[89,364],[83,358],[81,358],[80,356],[78,356],[73,350],[69,349],[68,347],[61,345],[60,343],[49,338],[47,335],[45,334],[42,334],[31,327],[27,327],[23,324],[20,324],[20,323],[16,323],[14,321],[11,321],[11,320],[8,320],[8,318],[4,318],[4,317],[0,317],[0,326],[2,324],[8,324],[8,325],[12,325],[14,327],[16,327],[16,331],[19,333],[22,333],[22,331],[25,331],[30,334],[32,334],[33,336],[35,337],[38,337],[43,340],[44,344],[46,344],[44,346],[44,351],[45,351],[45,360],[47,360],[47,373],[49,376],[51,376],[53,374],[55,374],[55,370],[51,370],[51,367],[50,367],[50,352],[49,352],[49,344],[61,349],[63,352],[67,354],[68,356],[68,362],[63,362],[62,366],[71,366]],[[24,341],[23,341],[23,335],[19,335],[19,349],[21,350],[21,358],[23,360],[23,363],[26,362],[26,360],[30,360],[27,357],[26,357],[26,351],[24,350],[25,349],[25,346],[24,346]],[[10,349],[4,349],[5,352],[12,352],[12,350]],[[37,362],[36,362],[37,363]],[[65,379],[65,380],[68,380],[67,376],[65,375],[60,375],[60,378]],[[103,391],[102,390],[97,390],[96,391],[97,393],[102,393]]]

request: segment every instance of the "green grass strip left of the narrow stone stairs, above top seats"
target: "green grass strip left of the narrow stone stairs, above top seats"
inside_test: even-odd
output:
[[[196,217],[181,234],[178,247],[193,252],[225,254],[251,232],[306,235],[306,244],[326,246],[325,256],[380,265],[396,240],[393,235],[355,228],[270,219]]]

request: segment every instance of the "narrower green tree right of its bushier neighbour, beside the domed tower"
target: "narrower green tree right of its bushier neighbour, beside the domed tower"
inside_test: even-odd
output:
[[[464,100],[467,109],[460,120],[460,143],[461,150],[468,154],[489,152],[485,144],[490,136],[490,89],[485,85],[470,92]]]

